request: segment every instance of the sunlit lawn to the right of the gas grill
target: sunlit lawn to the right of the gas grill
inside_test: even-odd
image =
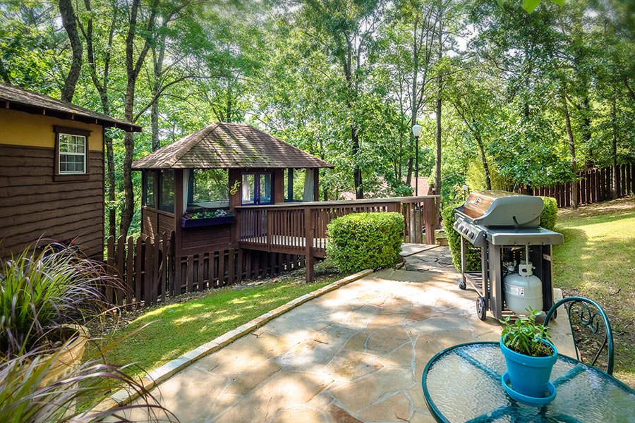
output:
[[[635,197],[558,213],[564,245],[553,252],[553,284],[602,305],[615,340],[614,374],[635,388]]]

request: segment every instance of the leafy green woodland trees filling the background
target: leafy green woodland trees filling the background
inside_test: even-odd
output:
[[[1,80],[144,127],[107,133],[110,234],[138,231],[133,159],[212,121],[256,125],[329,161],[325,199],[410,195],[414,123],[419,174],[434,180],[436,161],[445,202],[464,183],[540,187],[635,159],[626,0],[3,0],[0,10]]]

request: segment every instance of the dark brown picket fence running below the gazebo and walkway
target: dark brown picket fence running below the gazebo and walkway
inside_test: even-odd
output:
[[[107,298],[128,308],[299,269],[305,260],[300,255],[238,248],[175,257],[174,231],[157,238],[128,237],[125,242],[121,236],[109,237],[107,254],[108,269],[119,280],[106,288]]]

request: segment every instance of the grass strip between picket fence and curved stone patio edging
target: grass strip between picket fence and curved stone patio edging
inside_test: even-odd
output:
[[[150,309],[131,324],[116,331],[114,336],[107,336],[102,340],[104,345],[109,345],[114,339],[137,331],[107,350],[104,357],[109,364],[135,363],[130,373],[143,374],[143,371],[155,369],[261,314],[341,277],[331,274],[318,277],[315,283],[306,284],[301,282],[304,279],[302,273],[297,278],[284,278],[280,282],[240,290],[234,287],[211,290],[204,297],[195,300]],[[146,324],[149,325],[140,329]],[[95,349],[93,346],[93,350]]]

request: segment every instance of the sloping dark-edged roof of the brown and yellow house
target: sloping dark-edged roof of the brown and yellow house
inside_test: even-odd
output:
[[[75,106],[75,104],[62,102],[39,92],[25,90],[4,82],[0,82],[0,107],[26,111],[32,114],[44,114],[71,121],[95,123],[106,127],[120,128],[128,132],[141,131],[141,127],[134,123],[111,118],[96,111],[84,109],[83,107]]]

